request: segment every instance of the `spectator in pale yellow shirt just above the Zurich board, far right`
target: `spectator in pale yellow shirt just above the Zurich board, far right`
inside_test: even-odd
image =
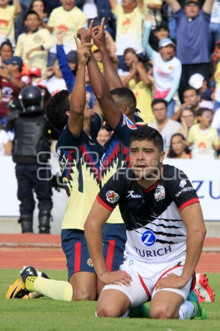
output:
[[[184,143],[186,146],[193,145],[193,159],[215,159],[215,151],[220,149],[220,142],[216,128],[211,127],[212,110],[200,108],[197,117],[200,123],[191,126],[188,139]]]

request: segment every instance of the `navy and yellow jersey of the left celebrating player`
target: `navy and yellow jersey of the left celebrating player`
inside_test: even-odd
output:
[[[62,229],[83,230],[84,222],[99,192],[103,148],[83,130],[78,137],[74,137],[67,125],[56,144],[56,153],[69,197]]]

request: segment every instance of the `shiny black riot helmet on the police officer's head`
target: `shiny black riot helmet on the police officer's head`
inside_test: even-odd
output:
[[[42,110],[44,94],[37,86],[26,86],[20,91],[18,98],[20,99],[23,113],[33,113]]]

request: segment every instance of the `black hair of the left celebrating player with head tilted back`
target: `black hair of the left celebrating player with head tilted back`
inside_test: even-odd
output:
[[[60,132],[68,122],[66,112],[70,110],[69,95],[68,90],[61,90],[49,100],[45,108],[49,122]]]

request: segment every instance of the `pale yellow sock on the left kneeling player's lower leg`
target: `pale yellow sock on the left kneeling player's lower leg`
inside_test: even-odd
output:
[[[62,280],[28,276],[25,287],[30,292],[39,292],[54,300],[71,301],[73,296],[72,285]]]

